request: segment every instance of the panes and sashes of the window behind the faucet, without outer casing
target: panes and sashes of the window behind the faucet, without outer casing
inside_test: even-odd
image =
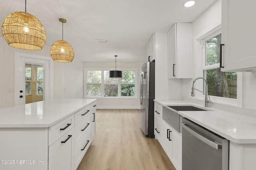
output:
[[[208,82],[208,95],[237,98],[237,72],[220,70],[221,31],[218,30],[202,39],[203,76]]]

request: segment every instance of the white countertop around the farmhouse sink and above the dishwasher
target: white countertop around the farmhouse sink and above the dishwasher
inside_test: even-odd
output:
[[[204,107],[184,100],[154,101],[163,106],[190,104]],[[234,143],[256,143],[256,118],[213,107],[204,108],[211,109],[212,111],[179,111],[178,113]]]

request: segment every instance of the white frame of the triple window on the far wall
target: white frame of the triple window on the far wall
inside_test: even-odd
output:
[[[95,70],[101,71],[101,83],[88,83],[88,84],[101,84],[101,96],[87,96],[87,71]],[[137,98],[137,69],[127,68],[119,69],[121,71],[134,71],[134,96],[121,96],[121,78],[118,78],[118,83],[105,83],[104,82],[104,71],[110,71],[110,68],[84,68],[84,98],[100,98],[100,99],[136,99]],[[104,85],[105,84],[118,84],[118,96],[104,96]]]

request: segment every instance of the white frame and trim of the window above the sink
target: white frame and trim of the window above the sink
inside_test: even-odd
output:
[[[206,66],[206,40],[215,37],[216,35],[221,33],[221,25],[219,25],[218,27],[212,29],[211,31],[209,31],[208,33],[202,35],[201,37],[199,37],[198,39],[196,39],[200,45],[201,45],[201,61],[202,61],[202,67],[199,68],[200,69],[200,76],[205,77],[204,75],[204,70],[210,70],[210,69],[214,69],[214,68],[220,68],[220,63],[216,63],[216,64],[212,64],[212,65],[208,65]],[[198,69],[198,70],[199,70]],[[205,71],[206,74],[206,71]],[[198,89],[203,89],[205,91],[205,86],[204,83],[202,81],[202,83],[195,83],[195,87]],[[204,100],[205,95],[202,94],[201,92],[197,92],[195,91],[195,97],[197,99],[200,100]],[[224,97],[218,97],[218,96],[210,96],[210,100],[214,103],[218,103],[218,104],[226,104],[226,105],[230,105],[230,106],[242,106],[242,72],[237,72],[237,98],[233,99],[233,98],[224,98]]]

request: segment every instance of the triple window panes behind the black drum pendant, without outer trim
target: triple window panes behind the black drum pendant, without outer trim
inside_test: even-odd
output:
[[[84,70],[85,98],[135,98],[136,70],[122,70],[122,78],[109,78],[109,70]]]

